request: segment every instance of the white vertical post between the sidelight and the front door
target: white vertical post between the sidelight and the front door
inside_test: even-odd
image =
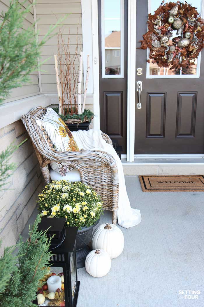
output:
[[[128,97],[127,97],[127,161],[134,162],[135,152],[135,60],[136,0],[128,1]]]

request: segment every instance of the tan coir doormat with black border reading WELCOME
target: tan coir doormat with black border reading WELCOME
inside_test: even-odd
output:
[[[143,192],[204,192],[204,176],[139,176]]]

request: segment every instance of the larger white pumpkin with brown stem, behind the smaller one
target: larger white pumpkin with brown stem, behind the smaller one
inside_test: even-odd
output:
[[[92,248],[102,248],[109,253],[111,259],[118,257],[124,248],[122,231],[114,224],[98,226],[92,236]]]

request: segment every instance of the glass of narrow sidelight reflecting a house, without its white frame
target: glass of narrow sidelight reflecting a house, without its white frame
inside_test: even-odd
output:
[[[121,0],[104,0],[105,75],[121,74]],[[102,51],[103,52],[103,51]]]

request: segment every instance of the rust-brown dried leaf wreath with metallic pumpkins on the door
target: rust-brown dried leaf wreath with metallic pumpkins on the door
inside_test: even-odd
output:
[[[162,2],[164,3],[164,1]],[[204,21],[195,7],[180,1],[161,4],[148,16],[148,32],[141,49],[150,49],[149,60],[159,67],[188,68],[204,47]],[[177,30],[173,37],[173,30]],[[174,35],[175,36],[175,35]]]

